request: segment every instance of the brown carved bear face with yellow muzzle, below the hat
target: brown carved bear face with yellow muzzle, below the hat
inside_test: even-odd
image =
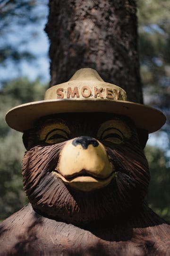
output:
[[[23,137],[24,189],[34,210],[78,225],[125,218],[144,201],[150,180],[140,135],[114,114],[37,121]]]

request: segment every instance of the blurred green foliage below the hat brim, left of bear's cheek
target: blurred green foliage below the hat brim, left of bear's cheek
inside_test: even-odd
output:
[[[21,134],[11,131],[7,137],[0,138],[0,219],[26,203],[21,175],[23,153]]]

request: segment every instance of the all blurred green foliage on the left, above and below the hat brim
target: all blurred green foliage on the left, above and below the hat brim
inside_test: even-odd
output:
[[[4,83],[0,91],[0,219],[7,218],[26,204],[21,161],[25,152],[22,134],[5,123],[5,113],[22,103],[43,99],[45,86],[37,80],[20,78]]]

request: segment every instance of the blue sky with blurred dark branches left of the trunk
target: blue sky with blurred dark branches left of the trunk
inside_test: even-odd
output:
[[[22,75],[49,80],[47,16],[48,0],[0,0],[0,85]]]

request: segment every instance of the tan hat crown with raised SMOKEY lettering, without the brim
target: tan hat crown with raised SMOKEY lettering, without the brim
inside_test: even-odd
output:
[[[52,86],[45,92],[44,100],[108,100],[126,101],[126,91],[115,84],[104,82],[92,68],[79,69],[68,82]]]

